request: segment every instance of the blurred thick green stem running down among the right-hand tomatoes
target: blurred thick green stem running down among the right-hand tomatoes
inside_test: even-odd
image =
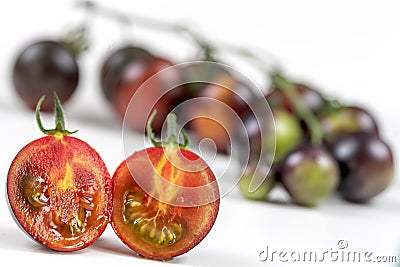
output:
[[[297,115],[304,120],[308,129],[311,131],[311,143],[317,145],[321,144],[323,140],[323,131],[321,126],[311,110],[301,102],[300,96],[293,83],[282,76],[279,72],[273,72],[270,76],[278,90],[281,90],[284,95],[286,95],[294,106]]]

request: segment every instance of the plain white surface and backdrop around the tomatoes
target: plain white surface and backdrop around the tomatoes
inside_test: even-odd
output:
[[[101,1],[107,4],[109,1]],[[15,154],[41,136],[33,114],[23,108],[10,83],[10,66],[17,51],[40,35],[61,33],[81,12],[72,1],[8,1],[0,9],[0,183],[5,184]],[[190,21],[210,38],[270,51],[287,73],[313,82],[326,92],[368,106],[380,121],[383,136],[398,158],[400,142],[399,83],[400,2],[398,1],[112,1],[115,8],[170,21]],[[181,62],[191,49],[180,39],[148,31],[121,31],[96,19],[93,50],[81,60],[79,91],[65,105],[69,129],[102,155],[110,173],[123,159],[120,125],[101,98],[97,73],[104,53],[123,39],[137,40],[160,55]],[[159,39],[163,38],[160,42]],[[238,66],[236,66],[238,67]],[[240,66],[238,67],[241,68]],[[244,72],[247,71],[243,70]],[[248,75],[263,86],[254,70]],[[45,119],[46,125],[52,123]],[[138,136],[138,140],[142,140]],[[138,143],[140,146],[140,143]],[[280,194],[277,194],[280,197]],[[2,262],[57,266],[124,263],[162,266],[137,258],[110,228],[88,249],[76,253],[49,251],[28,239],[12,221],[0,189],[0,255]],[[260,262],[259,253],[274,250],[331,251],[346,240],[350,251],[400,258],[400,186],[393,186],[371,205],[332,199],[316,209],[245,201],[237,192],[222,199],[217,222],[206,239],[188,254],[168,264],[189,266],[283,266]],[[289,263],[287,264],[289,265]],[[294,266],[309,266],[295,263]],[[321,266],[341,266],[325,261]],[[365,264],[357,264],[364,266]],[[368,264],[373,266],[374,264]],[[376,264],[390,266],[390,264]]]

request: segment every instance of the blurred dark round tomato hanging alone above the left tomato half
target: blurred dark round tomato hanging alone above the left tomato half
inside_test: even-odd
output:
[[[42,110],[51,111],[51,97],[56,91],[60,101],[67,101],[79,80],[77,62],[62,43],[41,41],[29,45],[17,57],[13,69],[15,90],[32,110],[42,95],[48,96]]]

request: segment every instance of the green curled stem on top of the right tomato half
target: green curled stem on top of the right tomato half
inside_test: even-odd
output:
[[[151,113],[149,120],[147,121],[147,125],[146,125],[146,132],[147,132],[147,135],[149,136],[150,141],[153,144],[153,146],[162,147],[165,145],[174,145],[174,146],[178,146],[179,148],[182,148],[182,149],[188,149],[190,146],[189,137],[188,137],[186,131],[184,129],[182,129],[182,127],[177,123],[176,115],[174,113],[169,113],[167,116],[167,136],[168,136],[167,142],[157,141],[155,139],[153,130],[151,128],[151,123],[153,122],[156,114],[157,114],[157,110],[154,110]],[[179,143],[179,133],[182,134],[183,143]]]

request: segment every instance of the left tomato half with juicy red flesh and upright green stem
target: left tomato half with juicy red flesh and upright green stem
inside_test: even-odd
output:
[[[99,154],[68,136],[56,99],[56,128],[26,145],[7,177],[7,197],[16,222],[33,239],[57,251],[75,251],[97,240],[111,211],[111,177]]]

